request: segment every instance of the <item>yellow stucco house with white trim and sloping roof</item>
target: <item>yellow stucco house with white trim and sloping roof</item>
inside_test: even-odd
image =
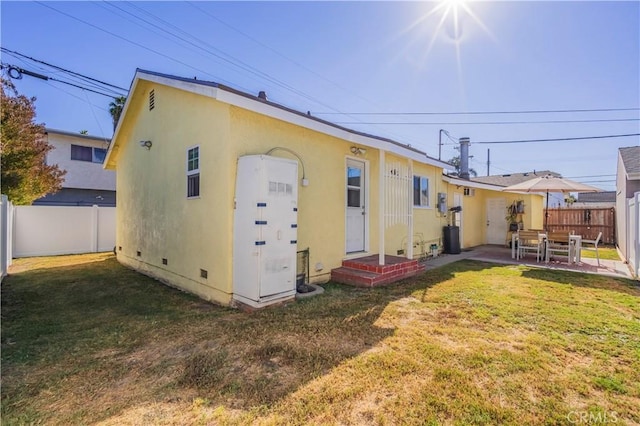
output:
[[[542,224],[541,197],[443,176],[447,163],[408,145],[263,93],[144,70],[105,167],[118,173],[118,260],[221,304],[294,297],[302,249],[307,279],[321,283],[345,261],[386,265],[441,251],[453,220],[462,247],[504,244],[516,199],[525,227]],[[455,206],[462,211],[452,215]]]

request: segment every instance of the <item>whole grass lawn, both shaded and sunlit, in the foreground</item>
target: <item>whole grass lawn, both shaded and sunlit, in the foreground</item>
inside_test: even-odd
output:
[[[243,313],[112,255],[2,283],[2,424],[640,423],[638,282],[461,261]]]

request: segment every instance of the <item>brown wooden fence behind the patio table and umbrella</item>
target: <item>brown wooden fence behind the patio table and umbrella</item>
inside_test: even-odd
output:
[[[557,208],[548,212],[549,231],[569,231],[587,240],[595,240],[602,231],[603,244],[616,243],[616,211],[613,207]]]

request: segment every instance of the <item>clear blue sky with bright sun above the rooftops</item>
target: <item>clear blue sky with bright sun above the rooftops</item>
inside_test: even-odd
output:
[[[637,136],[481,143],[640,133],[636,1],[470,1],[455,8],[439,2],[2,1],[0,7],[3,48],[124,88],[143,68],[254,94],[264,90],[274,102],[436,158],[445,129],[454,139],[471,138],[471,166],[479,175],[486,174],[490,149],[491,174],[550,169],[613,190],[618,147],[640,144]],[[7,53],[2,62],[71,81]],[[29,76],[14,83],[37,97],[39,122],[111,137],[109,98]],[[618,108],[632,110],[415,114]],[[486,124],[505,121],[525,123]],[[447,160],[457,154],[456,144],[446,135],[444,142]]]

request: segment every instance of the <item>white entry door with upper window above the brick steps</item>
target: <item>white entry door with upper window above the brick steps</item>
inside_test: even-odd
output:
[[[365,167],[364,163],[347,159],[347,213],[346,231],[347,253],[364,251],[366,235],[366,206],[365,202]]]

